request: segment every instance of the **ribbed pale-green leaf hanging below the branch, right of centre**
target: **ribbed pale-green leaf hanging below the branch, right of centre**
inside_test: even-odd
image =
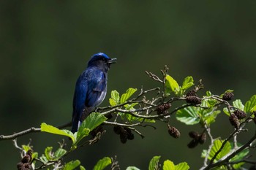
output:
[[[186,107],[179,109],[176,113],[176,119],[186,125],[195,125],[200,122],[200,117],[197,114],[196,107]]]

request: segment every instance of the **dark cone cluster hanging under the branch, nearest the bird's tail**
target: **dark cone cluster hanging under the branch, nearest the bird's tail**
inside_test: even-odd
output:
[[[127,140],[132,140],[135,138],[130,128],[123,128],[120,125],[115,125],[113,131],[120,136],[120,141],[123,144],[125,144]]]

